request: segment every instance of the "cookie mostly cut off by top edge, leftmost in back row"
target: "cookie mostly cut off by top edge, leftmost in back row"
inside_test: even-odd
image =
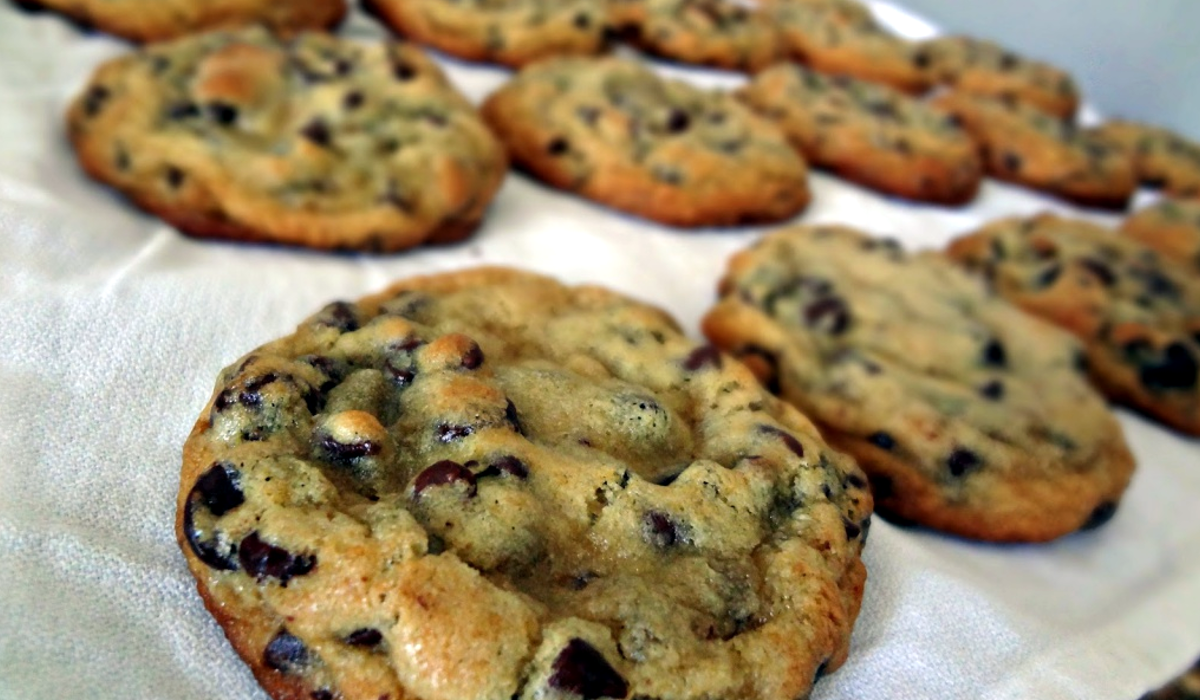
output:
[[[82,30],[134,42],[262,24],[276,34],[334,29],[346,0],[13,0],[26,12],[53,11]]]

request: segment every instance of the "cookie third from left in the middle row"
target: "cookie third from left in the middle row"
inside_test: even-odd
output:
[[[941,204],[964,204],[979,189],[983,164],[958,121],[887,85],[780,64],[738,96],[805,160],[847,180]]]

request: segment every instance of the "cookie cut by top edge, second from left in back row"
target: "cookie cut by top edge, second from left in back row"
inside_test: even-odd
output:
[[[362,0],[392,31],[469,61],[520,67],[607,50],[604,0]]]

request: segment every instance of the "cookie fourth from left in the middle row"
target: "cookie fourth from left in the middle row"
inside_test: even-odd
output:
[[[1120,149],[1019,102],[946,92],[932,104],[976,139],[988,174],[1100,209],[1123,210],[1138,187]]]

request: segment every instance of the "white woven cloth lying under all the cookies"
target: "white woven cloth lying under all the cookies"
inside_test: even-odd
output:
[[[343,31],[380,36],[361,17]],[[88,181],[65,142],[65,104],[120,50],[0,6],[0,699],[263,700],[172,533],[180,448],[222,366],[326,301],[481,262],[610,285],[696,335],[726,257],[758,231],[665,229],[512,175],[480,233],[449,249],[353,257],[186,239]],[[475,98],[505,76],[451,73]],[[799,221],[912,247],[1001,214],[1073,211],[992,181],[962,210],[823,175],[812,187]],[[994,546],[877,519],[850,662],[814,698],[1134,700],[1190,663],[1200,447],[1121,419],[1140,467],[1098,532]]]

